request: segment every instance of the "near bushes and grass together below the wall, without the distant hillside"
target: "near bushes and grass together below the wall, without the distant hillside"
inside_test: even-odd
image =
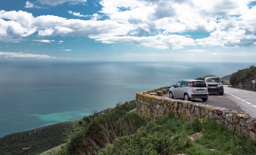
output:
[[[255,141],[227,131],[210,118],[183,121],[170,113],[156,120],[144,119],[124,110],[130,104],[134,103],[119,104],[91,119],[57,155],[255,155]],[[188,139],[197,132],[202,136],[195,142]]]

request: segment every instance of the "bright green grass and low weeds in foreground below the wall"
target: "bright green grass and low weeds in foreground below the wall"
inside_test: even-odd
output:
[[[203,135],[191,142],[187,137],[196,132]],[[172,114],[151,121],[131,136],[119,137],[113,144],[99,150],[99,155],[255,155],[256,143],[246,135],[229,132],[212,119],[183,121]]]

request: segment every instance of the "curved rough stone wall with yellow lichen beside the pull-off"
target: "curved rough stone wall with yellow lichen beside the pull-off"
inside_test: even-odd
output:
[[[230,109],[156,96],[156,92],[168,88],[170,86],[136,93],[137,113],[143,117],[159,118],[173,112],[176,117],[183,120],[202,120],[203,117],[212,117],[214,121],[223,124],[230,131],[249,135],[249,137],[256,140],[255,117]]]

